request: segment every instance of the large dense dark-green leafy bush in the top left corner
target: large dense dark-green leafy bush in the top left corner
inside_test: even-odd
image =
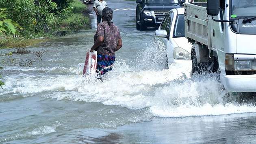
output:
[[[72,11],[71,2],[73,0],[1,0],[0,7],[6,7],[7,17],[24,28],[19,30],[21,36],[32,37],[48,29],[50,22],[65,19]]]

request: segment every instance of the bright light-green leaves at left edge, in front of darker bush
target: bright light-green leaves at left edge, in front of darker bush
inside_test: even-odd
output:
[[[7,19],[7,14],[5,13],[6,8],[0,8],[0,33],[12,32],[16,33],[16,28],[22,30],[23,28],[15,21]]]

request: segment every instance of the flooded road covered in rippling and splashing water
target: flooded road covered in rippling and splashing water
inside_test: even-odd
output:
[[[256,143],[250,94],[228,96],[215,74],[191,78],[190,65],[166,70],[154,29],[136,30],[136,3],[107,2],[123,39],[113,71],[82,77],[95,30],[31,47],[48,50],[42,61],[1,70],[0,143]]]

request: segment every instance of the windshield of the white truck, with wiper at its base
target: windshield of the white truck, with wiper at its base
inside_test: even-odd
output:
[[[237,17],[255,17],[256,16],[256,0],[231,0],[231,15]]]

